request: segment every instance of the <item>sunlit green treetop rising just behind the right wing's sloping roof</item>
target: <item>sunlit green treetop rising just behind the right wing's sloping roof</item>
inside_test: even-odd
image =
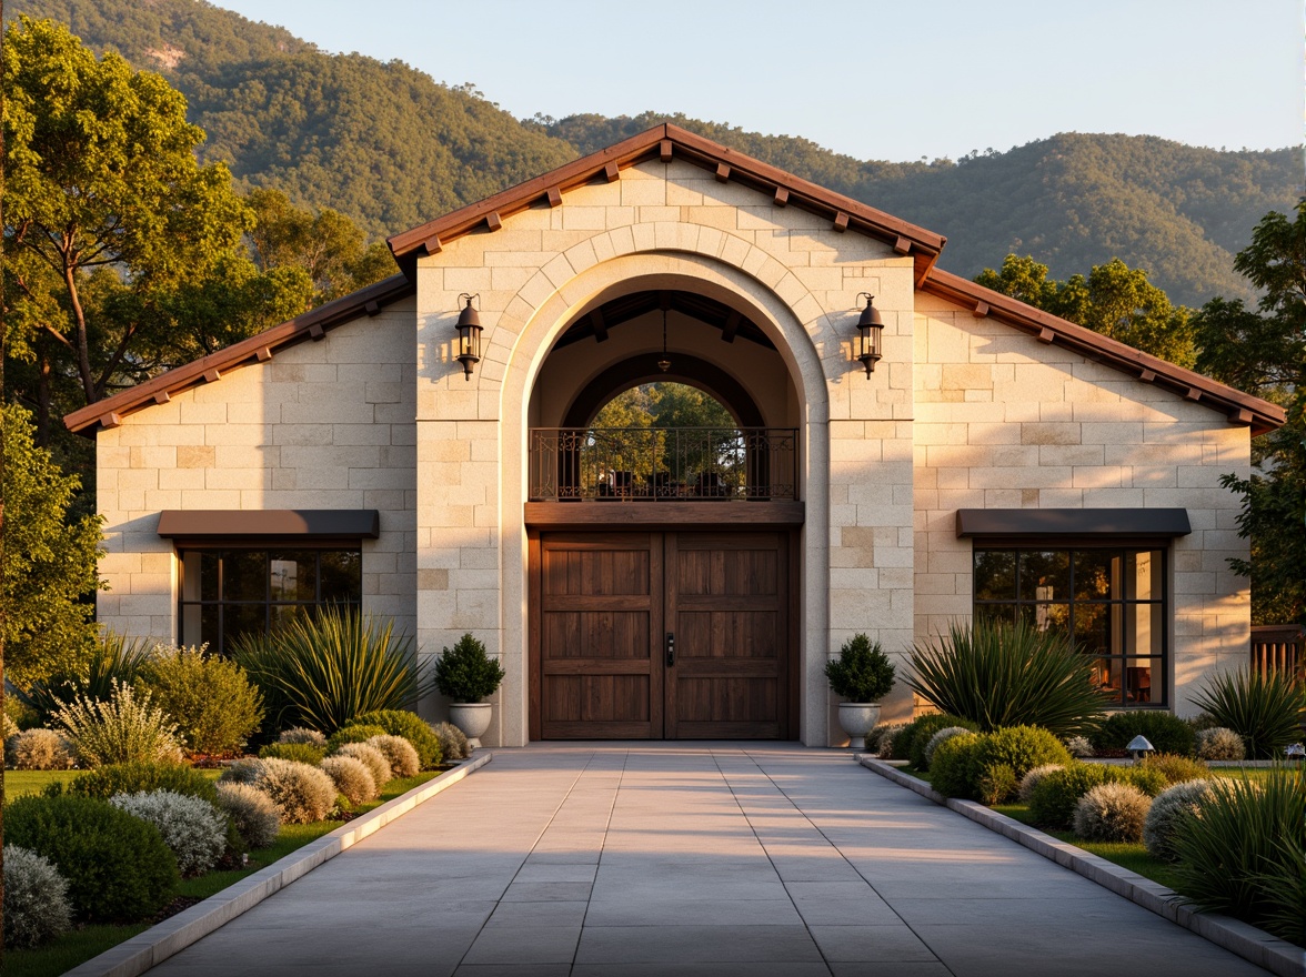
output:
[[[1072,274],[1057,282],[1033,257],[1007,255],[1000,272],[986,268],[976,282],[1177,366],[1195,362],[1188,310],[1171,304],[1147,272],[1118,257],[1094,265],[1087,278]]]

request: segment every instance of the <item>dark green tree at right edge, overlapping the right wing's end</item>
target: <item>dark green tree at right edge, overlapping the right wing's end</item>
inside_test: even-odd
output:
[[[1260,291],[1258,311],[1216,298],[1194,317],[1198,368],[1280,404],[1288,423],[1252,441],[1250,478],[1226,475],[1243,496],[1239,533],[1251,559],[1252,620],[1306,626],[1306,200],[1296,219],[1271,212],[1234,268]]]

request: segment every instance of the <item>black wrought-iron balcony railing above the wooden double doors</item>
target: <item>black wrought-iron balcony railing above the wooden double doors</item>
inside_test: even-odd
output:
[[[795,427],[533,427],[532,502],[778,502]]]

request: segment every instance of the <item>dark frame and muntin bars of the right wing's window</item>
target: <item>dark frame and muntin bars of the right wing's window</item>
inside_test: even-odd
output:
[[[1119,667],[1119,674],[1122,677],[1121,683],[1119,683],[1121,684],[1119,699],[1117,701],[1111,703],[1107,708],[1111,708],[1111,709],[1158,709],[1158,711],[1168,711],[1170,708],[1170,681],[1171,681],[1171,674],[1173,674],[1173,670],[1174,670],[1174,660],[1173,660],[1171,640],[1170,640],[1170,632],[1171,632],[1173,624],[1174,624],[1174,610],[1173,610],[1174,601],[1173,601],[1173,593],[1171,593],[1173,583],[1171,583],[1171,579],[1170,579],[1170,542],[1171,542],[1170,539],[1164,538],[1164,537],[1141,537],[1141,538],[1134,538],[1134,539],[1118,539],[1118,538],[1102,539],[1102,538],[1093,538],[1093,537],[1085,537],[1085,536],[1067,536],[1067,537],[1051,536],[1051,537],[1047,537],[1045,539],[1030,539],[1028,537],[1019,537],[1019,538],[1012,538],[1012,537],[976,538],[974,543],[972,546],[972,556],[970,556],[970,583],[972,583],[970,609],[972,609],[972,619],[978,619],[980,615],[981,615],[982,609],[985,609],[985,607],[1004,607],[1004,606],[1010,606],[1012,609],[1012,620],[1015,620],[1019,617],[1021,607],[1037,607],[1041,603],[1042,605],[1066,605],[1067,610],[1068,610],[1068,614],[1070,614],[1071,635],[1074,635],[1074,622],[1075,622],[1076,605],[1079,605],[1079,606],[1089,605],[1089,606],[1121,607],[1121,610],[1122,610],[1121,624],[1119,624],[1118,632],[1113,633],[1110,636],[1110,640],[1113,641],[1110,653],[1107,653],[1107,654],[1098,654],[1096,652],[1085,652],[1087,654],[1092,654],[1092,657],[1094,660],[1107,660],[1113,665],[1115,665],[1115,666]],[[1148,600],[1138,600],[1138,598],[1127,598],[1127,597],[1110,597],[1110,598],[1098,598],[1098,600],[1076,598],[1075,592],[1076,592],[1077,588],[1075,585],[1076,584],[1076,581],[1075,581],[1075,554],[1076,553],[1091,551],[1091,550],[1092,551],[1098,551],[1098,553],[1101,553],[1101,551],[1115,553],[1115,554],[1122,554],[1124,556],[1127,556],[1128,554],[1138,554],[1138,553],[1153,553],[1153,551],[1155,553],[1160,553],[1160,556],[1161,556],[1161,568],[1160,568],[1161,586],[1160,586],[1160,594],[1157,597],[1152,597],[1152,598],[1148,598]],[[983,554],[983,553],[1015,553],[1016,554],[1017,563],[1016,563],[1016,580],[1015,580],[1015,592],[1016,592],[1016,596],[1015,597],[1012,597],[1010,600],[998,600],[998,598],[980,600],[978,590],[976,589],[976,573],[977,573],[977,568],[978,568],[980,555]],[[1021,590],[1020,590],[1020,584],[1021,584],[1020,577],[1021,577],[1021,573],[1020,573],[1020,569],[1019,569],[1020,568],[1020,562],[1019,560],[1020,560],[1020,554],[1021,553],[1066,553],[1067,554],[1067,564],[1068,564],[1067,566],[1067,572],[1068,572],[1068,577],[1067,577],[1068,586],[1067,586],[1067,590],[1068,590],[1068,593],[1067,593],[1066,600],[1038,601],[1037,597],[1027,598],[1027,597],[1024,597],[1021,594]],[[1124,645],[1126,645],[1126,641],[1124,641],[1124,627],[1126,627],[1126,623],[1127,623],[1127,615],[1123,614],[1123,610],[1126,607],[1128,607],[1128,606],[1134,606],[1134,607],[1143,607],[1143,606],[1153,607],[1153,606],[1160,606],[1160,609],[1161,609],[1161,628],[1160,628],[1160,650],[1158,652],[1152,652],[1152,653],[1148,653],[1148,654],[1141,654],[1141,653],[1138,653],[1138,652],[1135,652],[1134,654],[1126,653],[1126,650],[1124,650]],[[1131,661],[1136,661],[1136,662],[1148,661],[1148,662],[1151,662],[1152,660],[1156,660],[1156,658],[1160,658],[1160,661],[1161,661],[1161,675],[1160,675],[1160,682],[1156,681],[1155,675],[1149,677],[1151,678],[1151,686],[1149,686],[1151,699],[1149,699],[1149,701],[1147,701],[1147,703],[1130,701],[1128,700],[1130,687],[1128,687],[1128,683],[1124,681],[1124,677],[1127,675],[1126,669],[1130,667],[1128,662],[1131,662]],[[1151,667],[1151,665],[1148,667]],[[1160,690],[1160,695],[1157,695],[1157,690]]]

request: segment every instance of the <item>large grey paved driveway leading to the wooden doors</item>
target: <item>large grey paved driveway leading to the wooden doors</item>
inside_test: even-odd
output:
[[[846,752],[581,743],[495,751],[151,973],[1266,972]]]

